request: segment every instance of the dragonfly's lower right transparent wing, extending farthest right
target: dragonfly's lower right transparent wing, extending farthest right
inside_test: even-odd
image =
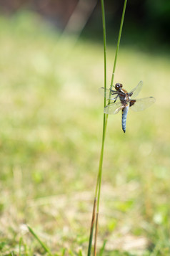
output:
[[[133,111],[141,111],[146,108],[149,108],[152,104],[155,103],[155,101],[156,100],[154,97],[143,98],[143,99],[138,99],[138,100],[131,100],[130,109]]]

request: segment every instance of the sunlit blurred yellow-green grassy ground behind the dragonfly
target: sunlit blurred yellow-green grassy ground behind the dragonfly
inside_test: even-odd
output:
[[[86,255],[101,147],[103,47],[60,39],[39,17],[0,19],[0,250]],[[116,40],[116,39],[115,39]],[[108,81],[114,60],[109,47]],[[103,255],[170,255],[169,54],[121,47],[115,82],[156,103],[110,116],[99,216]],[[109,84],[108,82],[108,84]]]

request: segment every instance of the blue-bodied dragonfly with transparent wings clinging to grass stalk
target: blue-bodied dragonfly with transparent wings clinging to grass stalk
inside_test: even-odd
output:
[[[134,87],[129,93],[123,88],[123,85],[119,82],[116,83],[114,90],[105,89],[101,87],[102,94],[104,97],[109,100],[109,103],[104,108],[104,113],[106,114],[117,114],[119,111],[122,111],[121,117],[121,127],[124,133],[126,132],[126,119],[129,108],[134,111],[141,111],[146,108],[149,108],[154,102],[154,97],[141,98],[136,100],[136,96],[141,91],[143,82],[140,81],[139,84]]]

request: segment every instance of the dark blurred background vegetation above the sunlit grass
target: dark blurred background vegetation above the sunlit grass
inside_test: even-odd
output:
[[[119,30],[124,1],[105,0],[107,42],[116,44],[115,34]],[[60,31],[66,29],[71,15],[76,11],[73,27],[69,32],[74,33],[81,22],[84,37],[102,40],[101,1],[97,0],[0,0],[0,13],[13,15],[29,9],[40,14],[46,21]],[[83,21],[84,20],[84,21]],[[150,51],[161,44],[167,47],[170,43],[170,2],[169,0],[129,0],[126,8],[126,19],[121,44],[141,45]]]

